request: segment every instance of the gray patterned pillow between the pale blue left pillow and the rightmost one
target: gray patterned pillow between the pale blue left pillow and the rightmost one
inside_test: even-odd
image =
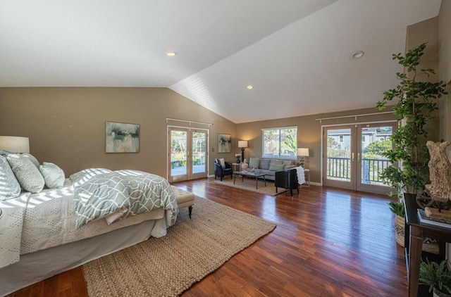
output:
[[[44,189],[44,177],[42,177],[39,169],[32,163],[30,158],[11,153],[6,157],[11,169],[19,181],[20,187],[31,193],[39,193]]]

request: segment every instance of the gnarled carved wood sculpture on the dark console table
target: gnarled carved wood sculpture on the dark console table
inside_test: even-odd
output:
[[[431,184],[426,184],[426,190],[416,196],[416,202],[421,208],[451,208],[451,163],[445,152],[450,144],[449,141],[426,142],[431,156],[428,163]]]

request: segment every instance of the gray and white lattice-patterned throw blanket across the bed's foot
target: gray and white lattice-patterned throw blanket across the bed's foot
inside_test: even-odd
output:
[[[77,228],[102,217],[111,223],[156,208],[163,208],[170,214],[168,226],[177,218],[178,206],[171,185],[158,175],[137,170],[92,168],[69,178],[73,182]]]

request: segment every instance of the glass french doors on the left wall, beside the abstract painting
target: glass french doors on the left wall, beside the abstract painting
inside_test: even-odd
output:
[[[208,130],[168,127],[168,180],[206,177]]]

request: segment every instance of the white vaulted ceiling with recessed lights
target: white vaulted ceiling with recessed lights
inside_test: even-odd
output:
[[[0,87],[169,87],[236,123],[369,108],[440,2],[1,1]]]

